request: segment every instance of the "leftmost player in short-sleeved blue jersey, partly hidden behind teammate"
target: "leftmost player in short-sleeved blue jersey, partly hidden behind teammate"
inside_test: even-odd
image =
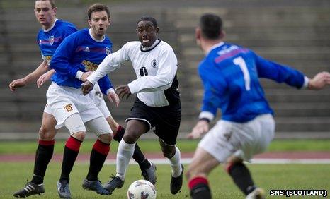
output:
[[[9,84],[9,88],[12,91],[33,82],[39,77],[37,85],[40,87],[45,80],[49,79],[54,73],[54,70],[45,73],[45,71],[49,70],[48,64],[50,64],[52,54],[54,54],[55,50],[65,37],[76,32],[76,28],[72,23],[67,23],[56,18],[56,11],[57,8],[54,1],[35,1],[35,16],[42,25],[42,30],[38,33],[37,42],[40,46],[42,59],[44,61],[42,61],[40,66],[38,66],[33,73],[28,74],[24,78],[13,80],[13,82]],[[45,74],[40,76],[42,73]],[[122,126],[119,126],[112,118],[100,92],[97,89],[93,90],[93,94],[91,94],[90,97],[106,117],[112,131],[115,132],[114,139],[120,141],[121,138],[123,138],[125,129]],[[43,186],[43,178],[54,150],[54,138],[57,133],[55,125],[55,117],[52,115],[50,107],[46,105],[42,115],[42,126],[39,131],[40,138],[35,155],[33,179],[26,184],[25,188],[14,193],[15,197],[28,197],[30,195],[44,193],[45,188]],[[135,147],[135,156],[133,156],[133,158],[139,163],[144,179],[155,179],[154,168],[151,167],[151,163],[145,159],[138,146]]]

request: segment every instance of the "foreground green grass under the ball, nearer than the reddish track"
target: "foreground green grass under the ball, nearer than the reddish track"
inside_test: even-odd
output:
[[[187,167],[187,166],[186,166]],[[330,191],[330,166],[329,164],[249,164],[254,181],[263,187],[266,193],[271,189],[326,189]],[[59,163],[51,163],[45,176],[45,194],[42,198],[58,198],[55,184],[59,178]],[[12,198],[12,194],[23,188],[26,179],[31,178],[33,162],[4,163],[0,162],[0,198]],[[78,163],[71,174],[70,187],[74,198],[108,198],[96,195],[91,191],[81,188],[81,181],[86,176],[87,164]],[[115,173],[114,165],[105,165],[100,174],[102,182],[108,181],[110,174]],[[157,198],[174,198],[169,192],[171,169],[169,165],[157,165]],[[126,198],[126,191],[130,183],[142,179],[137,165],[130,165],[123,188],[113,192],[110,198]],[[232,179],[217,167],[209,176],[211,190],[214,198],[244,198]],[[40,198],[32,196],[30,198]],[[186,179],[183,182],[181,193],[175,198],[188,198]],[[267,198],[271,198],[269,195]],[[278,198],[278,197],[274,197]]]

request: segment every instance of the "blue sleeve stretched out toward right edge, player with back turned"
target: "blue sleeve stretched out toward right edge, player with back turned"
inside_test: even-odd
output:
[[[286,83],[296,88],[302,88],[305,85],[306,80],[308,80],[303,73],[294,68],[273,61],[268,61],[254,52],[252,53],[254,54],[256,68],[260,78],[268,78],[275,80],[278,83]]]

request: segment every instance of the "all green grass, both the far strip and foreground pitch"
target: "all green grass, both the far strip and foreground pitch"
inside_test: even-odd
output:
[[[81,145],[81,153],[89,153],[94,140],[86,140]],[[143,152],[160,152],[156,140],[140,140]],[[193,152],[198,140],[178,140],[178,147],[182,152]],[[111,153],[115,153],[118,143],[111,144]],[[55,153],[62,154],[64,141],[59,140],[55,145]],[[34,154],[37,143],[28,142],[0,142],[0,155]],[[330,140],[274,140],[268,151],[330,151]],[[33,174],[33,159],[28,162],[0,162],[0,198],[13,198],[13,193],[23,188],[26,180]],[[188,169],[188,165],[185,165]],[[269,195],[271,189],[326,189],[330,191],[330,164],[248,164],[257,186],[266,190],[267,198],[281,198]],[[56,182],[59,179],[61,164],[50,162],[45,176],[45,193],[29,198],[59,198]],[[88,163],[76,162],[71,174],[70,188],[73,198],[127,198],[126,191],[130,183],[142,179],[140,168],[131,164],[127,169],[127,177],[123,188],[115,190],[113,195],[97,195],[92,191],[81,188],[82,180],[89,169]],[[100,180],[103,183],[109,176],[115,174],[115,165],[104,165]],[[169,164],[157,165],[157,198],[189,198],[186,179],[183,181],[181,193],[171,195],[169,191],[171,169]],[[234,186],[232,179],[217,167],[209,176],[213,198],[244,198],[239,189]],[[285,198],[285,197],[282,197]],[[302,198],[302,197],[292,197]],[[314,197],[313,197],[314,198]]]

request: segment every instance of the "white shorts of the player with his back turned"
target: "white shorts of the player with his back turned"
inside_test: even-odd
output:
[[[204,136],[198,147],[219,162],[227,162],[234,155],[249,161],[264,152],[274,138],[275,121],[271,114],[263,114],[246,123],[220,120]]]

